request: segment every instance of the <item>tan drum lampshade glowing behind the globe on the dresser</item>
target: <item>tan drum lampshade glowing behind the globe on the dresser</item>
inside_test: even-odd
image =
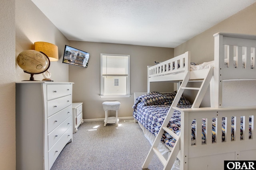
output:
[[[50,61],[58,61],[59,59],[57,45],[46,42],[35,42],[34,50],[41,51],[46,54],[49,57]]]

